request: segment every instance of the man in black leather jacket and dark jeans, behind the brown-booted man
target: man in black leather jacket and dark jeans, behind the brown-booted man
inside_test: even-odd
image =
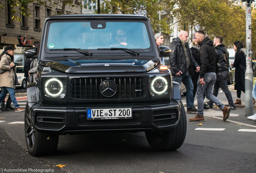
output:
[[[231,110],[235,110],[235,104],[233,102],[231,92],[227,87],[227,77],[229,76],[229,52],[227,52],[222,41],[223,39],[221,36],[216,36],[213,39],[213,46],[215,46],[216,52],[216,81],[213,87],[213,95],[217,97],[219,88],[221,87],[221,90],[227,97],[229,107],[231,107]],[[208,105],[212,108],[213,102],[209,101]]]

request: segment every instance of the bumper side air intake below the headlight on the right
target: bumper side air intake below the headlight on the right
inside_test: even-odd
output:
[[[157,127],[173,125],[178,121],[178,110],[153,111],[153,124]]]

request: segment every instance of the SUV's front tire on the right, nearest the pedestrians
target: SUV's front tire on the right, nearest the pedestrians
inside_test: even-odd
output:
[[[149,145],[158,151],[171,151],[179,149],[186,137],[187,119],[183,104],[181,105],[180,121],[169,131],[145,132]]]

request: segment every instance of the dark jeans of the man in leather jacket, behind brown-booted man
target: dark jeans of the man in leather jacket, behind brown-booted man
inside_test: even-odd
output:
[[[213,87],[213,95],[215,97],[217,97],[217,95],[219,93],[219,88],[221,88],[221,90],[225,93],[225,95],[227,97],[227,101],[229,102],[229,105],[235,106],[231,92],[229,91],[229,88],[227,87],[227,77],[228,76],[229,76],[228,71],[216,73],[216,82]],[[209,101],[208,105],[213,106],[213,102]]]

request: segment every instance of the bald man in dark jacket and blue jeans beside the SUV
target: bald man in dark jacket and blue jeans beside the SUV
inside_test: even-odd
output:
[[[177,38],[173,38],[171,42],[171,55],[169,57],[169,62],[171,65],[171,74],[173,76],[173,81],[183,84],[186,87],[186,101],[187,101],[187,112],[197,112],[194,107],[193,99],[193,83],[191,76],[193,76],[194,68],[196,71],[200,70],[200,67],[192,58],[191,50],[187,43],[188,32],[181,31]]]

